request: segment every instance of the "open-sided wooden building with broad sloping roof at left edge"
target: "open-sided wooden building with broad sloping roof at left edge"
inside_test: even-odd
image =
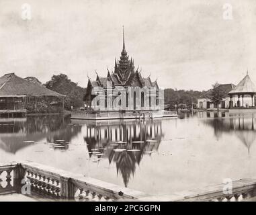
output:
[[[18,77],[15,73],[7,73],[0,77],[0,114],[20,114],[26,113],[28,110],[36,113],[42,101],[52,99],[59,99],[62,109],[62,98],[65,95],[29,80]],[[43,105],[46,110],[46,103],[44,102]]]

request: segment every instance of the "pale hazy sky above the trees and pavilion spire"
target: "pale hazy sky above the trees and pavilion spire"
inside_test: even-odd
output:
[[[106,77],[107,67],[114,69],[124,26],[135,68],[161,87],[201,91],[216,81],[237,85],[247,69],[256,83],[256,1],[225,3],[0,0],[0,75],[45,83],[64,73],[86,87],[87,75],[95,79],[97,71]]]

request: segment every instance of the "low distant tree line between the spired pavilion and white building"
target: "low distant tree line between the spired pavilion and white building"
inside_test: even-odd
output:
[[[183,90],[183,89],[165,89],[165,104],[186,104],[198,103],[198,97],[205,91]]]

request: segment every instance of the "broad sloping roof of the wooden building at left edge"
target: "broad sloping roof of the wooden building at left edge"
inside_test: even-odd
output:
[[[0,77],[0,97],[9,97],[9,96],[56,96],[63,97],[60,93],[47,89],[46,87],[22,79],[14,73],[5,74]]]

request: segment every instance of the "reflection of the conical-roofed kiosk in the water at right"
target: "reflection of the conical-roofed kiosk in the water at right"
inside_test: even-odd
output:
[[[219,114],[223,116],[223,114]],[[214,135],[220,138],[223,132],[233,133],[247,147],[248,153],[256,139],[255,115],[254,114],[233,114],[225,113],[224,117],[214,117],[212,120],[204,120],[204,124],[208,124],[214,128]]]

